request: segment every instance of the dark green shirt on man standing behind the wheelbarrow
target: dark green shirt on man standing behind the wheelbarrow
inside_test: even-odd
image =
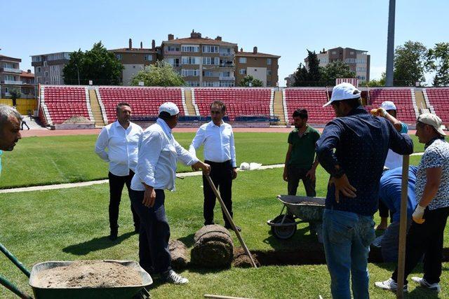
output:
[[[298,130],[295,128],[288,134],[288,144],[292,145],[292,152],[290,153],[289,166],[298,168],[311,169],[311,165],[315,160],[315,144],[320,138],[318,130],[307,125],[306,130],[300,136]]]

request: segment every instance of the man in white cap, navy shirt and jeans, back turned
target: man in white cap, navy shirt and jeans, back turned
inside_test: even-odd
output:
[[[333,88],[334,120],[316,142],[320,164],[330,174],[323,212],[323,244],[333,298],[369,298],[368,253],[375,239],[373,214],[388,148],[413,153],[413,142],[384,118],[361,106],[361,92],[349,83]],[[335,150],[335,152],[334,152]]]

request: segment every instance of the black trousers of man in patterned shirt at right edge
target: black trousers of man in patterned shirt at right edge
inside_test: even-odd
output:
[[[424,254],[424,279],[429,284],[440,282],[441,260],[443,259],[443,233],[449,216],[449,207],[424,211],[424,223],[412,221],[407,234],[406,268],[404,284],[407,277],[419,263]],[[394,270],[391,278],[398,281],[398,269]]]

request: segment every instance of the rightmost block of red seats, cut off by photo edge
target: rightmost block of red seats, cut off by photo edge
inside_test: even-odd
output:
[[[449,125],[449,88],[424,88],[422,93],[430,112]]]

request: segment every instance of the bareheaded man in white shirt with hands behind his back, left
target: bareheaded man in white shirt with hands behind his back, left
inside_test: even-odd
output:
[[[131,107],[127,103],[119,103],[116,107],[117,120],[103,127],[95,144],[95,153],[109,162],[109,239],[117,239],[119,233],[119,206],[121,191],[126,184],[128,193],[131,179],[138,162],[138,142],[142,127],[130,122]],[[107,151],[105,149],[107,148]],[[134,231],[139,232],[140,221],[133,206]]]

